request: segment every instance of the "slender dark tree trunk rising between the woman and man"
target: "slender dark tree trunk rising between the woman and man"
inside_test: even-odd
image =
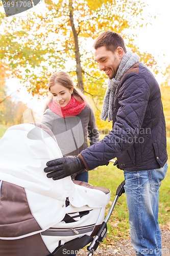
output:
[[[79,41],[78,41],[78,34],[76,32],[75,24],[74,24],[72,0],[69,0],[69,18],[70,18],[71,29],[72,29],[72,33],[74,35],[74,41],[75,41],[76,73],[78,78],[78,87],[82,92],[84,92],[83,76],[82,76],[83,72],[81,68],[80,51],[79,51]]]

